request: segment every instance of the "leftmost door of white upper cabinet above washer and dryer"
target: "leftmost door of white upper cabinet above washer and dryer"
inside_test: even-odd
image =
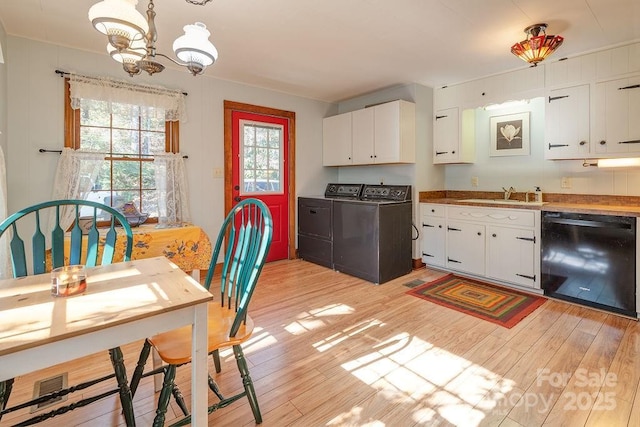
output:
[[[322,164],[350,165],[351,113],[325,117],[322,120]]]

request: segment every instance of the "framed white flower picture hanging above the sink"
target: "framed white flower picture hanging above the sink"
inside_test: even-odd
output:
[[[490,156],[529,155],[529,112],[490,117]]]

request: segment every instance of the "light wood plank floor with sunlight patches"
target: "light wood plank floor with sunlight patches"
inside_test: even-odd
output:
[[[638,322],[548,300],[505,329],[405,295],[404,283],[442,274],[416,270],[375,286],[301,260],[268,264],[251,303],[257,330],[244,347],[262,425],[640,425]],[[123,347],[128,373],[140,345]],[[241,382],[232,355],[222,356],[217,380],[231,393]],[[13,396],[30,396],[36,379],[59,372],[73,383],[109,371],[99,354],[18,378]],[[187,399],[189,373],[178,372]],[[135,396],[138,426],[151,425],[156,397],[147,379]],[[172,403],[168,420],[177,413]],[[209,419],[255,424],[246,399]],[[123,419],[112,397],[42,425]]]

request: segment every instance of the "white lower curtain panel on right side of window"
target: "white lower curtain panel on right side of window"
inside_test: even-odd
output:
[[[155,153],[158,227],[177,227],[191,221],[189,190],[180,153]]]

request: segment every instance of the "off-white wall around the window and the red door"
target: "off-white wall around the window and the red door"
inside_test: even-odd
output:
[[[106,53],[90,53],[17,37],[6,40],[7,44],[3,44],[3,48],[7,48],[5,59],[10,60],[6,61],[8,126],[5,155],[9,212],[14,212],[51,196],[57,155],[39,153],[38,149],[61,149],[64,143],[64,81],[55,70],[123,80],[130,80],[130,77]],[[2,67],[0,65],[0,73]],[[334,114],[335,105],[219,80],[214,76],[215,65],[206,71],[206,75],[198,77],[192,77],[186,70],[167,68],[153,77],[139,75],[133,78],[134,82],[188,92],[188,121],[180,123],[180,148],[189,156],[187,167],[193,222],[212,238],[217,235],[224,214],[223,180],[213,178],[213,169],[223,166],[224,100],[296,113],[297,194],[321,194],[327,182],[337,179],[335,170],[322,167],[322,118]],[[0,81],[5,81],[2,75]],[[2,102],[0,115],[1,108]]]

